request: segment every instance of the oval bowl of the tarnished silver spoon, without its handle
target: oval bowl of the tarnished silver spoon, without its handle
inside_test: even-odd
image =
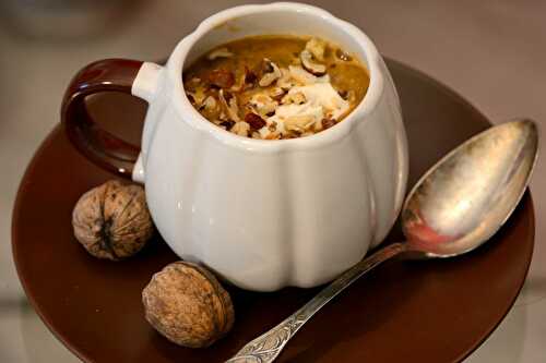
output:
[[[486,242],[520,202],[537,149],[536,124],[520,120],[490,128],[440,159],[403,206],[408,250],[451,257]]]

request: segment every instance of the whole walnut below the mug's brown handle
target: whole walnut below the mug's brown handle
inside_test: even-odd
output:
[[[154,226],[144,189],[110,180],[83,194],[72,213],[78,241],[98,258],[121,259],[139,252]]]

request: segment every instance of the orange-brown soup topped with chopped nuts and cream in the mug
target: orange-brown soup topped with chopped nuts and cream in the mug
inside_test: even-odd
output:
[[[312,135],[343,120],[369,86],[366,68],[319,38],[254,36],[222,45],[183,72],[193,107],[240,136]]]

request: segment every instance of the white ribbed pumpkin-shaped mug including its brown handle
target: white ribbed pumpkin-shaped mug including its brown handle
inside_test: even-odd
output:
[[[215,46],[263,34],[342,46],[369,70],[364,100],[339,124],[301,138],[247,138],[206,121],[185,95],[182,70]],[[131,92],[150,104],[140,154],[86,116],[83,98],[103,90]],[[245,289],[333,279],[384,239],[402,205],[407,146],[389,71],[363,32],[314,7],[222,11],[183,38],[165,66],[92,63],[72,81],[62,116],[85,156],[145,184],[157,229],[180,257]]]

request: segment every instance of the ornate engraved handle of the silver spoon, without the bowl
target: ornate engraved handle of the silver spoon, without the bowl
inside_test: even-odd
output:
[[[405,243],[390,244],[369,257],[347,269],[328,287],[320,291],[311,301],[288,316],[271,330],[259,336],[242,347],[227,363],[268,363],[273,362],[284,346],[322,306],[355,282],[360,276],[382,262],[406,251]]]

